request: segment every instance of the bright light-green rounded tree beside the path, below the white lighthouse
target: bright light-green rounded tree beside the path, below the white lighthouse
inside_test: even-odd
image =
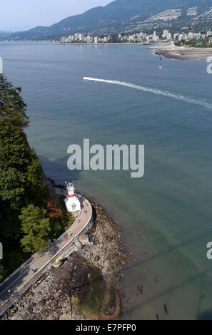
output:
[[[21,220],[21,231],[24,233],[24,237],[21,239],[24,252],[44,250],[51,231],[47,211],[29,205],[22,208],[19,219]]]

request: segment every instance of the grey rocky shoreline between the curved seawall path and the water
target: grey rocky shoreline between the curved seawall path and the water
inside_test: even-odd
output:
[[[21,298],[13,306],[1,315],[1,320],[120,318],[121,268],[126,265],[127,253],[116,223],[113,222],[108,213],[99,204],[92,200],[89,201],[94,210],[94,223],[86,234],[79,237],[81,247],[74,254],[70,254],[64,266],[67,267],[67,264],[73,264],[71,262],[74,262],[74,265],[76,265],[72,271],[74,271],[74,276],[79,276],[77,280],[81,283],[83,283],[83,272],[77,259],[83,259],[84,268],[93,268],[95,271],[101,272],[101,280],[104,281],[104,287],[106,287],[109,297],[104,297],[104,312],[94,313],[94,311],[89,311],[89,307],[86,309],[76,308],[74,303],[73,308],[72,306],[70,308],[68,297],[63,294],[61,287],[56,281],[58,273],[56,273],[56,269],[51,268],[49,272],[43,274],[34,285],[22,294]],[[96,287],[96,284],[94,287]],[[81,287],[83,287],[83,284],[81,284]],[[76,297],[73,297],[71,301],[76,301]],[[84,306],[85,304],[81,305]]]

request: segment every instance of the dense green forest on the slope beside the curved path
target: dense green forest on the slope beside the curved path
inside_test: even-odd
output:
[[[0,75],[0,282],[32,253],[42,251],[73,222],[63,201],[52,197],[35,150],[21,88]]]

